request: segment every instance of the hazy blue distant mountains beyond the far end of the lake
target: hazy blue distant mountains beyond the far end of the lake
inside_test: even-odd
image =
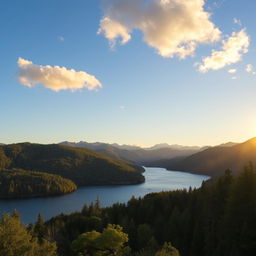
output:
[[[127,161],[128,163],[136,163],[145,165],[150,161],[171,159],[174,157],[189,156],[200,150],[200,147],[177,147],[168,144],[156,145],[152,148],[140,148],[137,146],[120,146],[118,144],[107,143],[88,143],[80,141],[75,142],[61,142],[61,145],[68,145],[78,148],[87,148],[106,155],[112,159]],[[168,147],[166,147],[168,145]]]

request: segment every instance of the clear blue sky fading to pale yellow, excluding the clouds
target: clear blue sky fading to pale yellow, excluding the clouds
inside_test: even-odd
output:
[[[97,34],[110,15],[103,6],[100,0],[1,1],[0,142],[215,145],[255,136],[256,75],[245,70],[256,67],[255,1],[207,1],[204,11],[222,37],[199,43],[185,59],[161,56],[142,29],[111,49],[106,35]],[[250,45],[239,61],[198,71],[195,63],[242,29]],[[87,72],[102,88],[28,87],[19,81],[18,58]]]

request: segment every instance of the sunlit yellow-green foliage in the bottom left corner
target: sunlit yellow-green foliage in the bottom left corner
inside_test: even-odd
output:
[[[15,216],[0,219],[0,255],[3,256],[55,256],[56,245],[48,241],[38,243]]]

